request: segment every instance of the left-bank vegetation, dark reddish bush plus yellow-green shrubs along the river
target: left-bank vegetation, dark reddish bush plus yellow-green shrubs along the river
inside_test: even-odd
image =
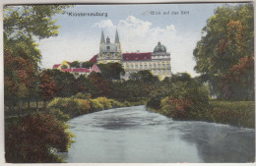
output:
[[[46,112],[30,112],[29,115],[6,119],[6,161],[12,163],[65,162],[56,152],[66,152],[75,136],[68,132],[65,122],[71,118],[125,106],[145,104],[120,103],[106,97],[91,98],[78,93],[72,97],[57,97],[47,105]]]

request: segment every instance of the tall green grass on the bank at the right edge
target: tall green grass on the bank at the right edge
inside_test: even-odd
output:
[[[210,105],[213,122],[255,128],[254,101],[211,101]]]

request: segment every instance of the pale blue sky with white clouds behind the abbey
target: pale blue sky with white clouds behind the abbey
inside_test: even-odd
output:
[[[58,36],[39,40],[40,67],[52,68],[64,60],[88,61],[99,52],[101,30],[112,42],[117,29],[123,52],[153,52],[160,41],[170,53],[172,73],[197,76],[193,50],[207,20],[223,5],[75,5],[54,16],[60,26]],[[107,15],[75,16],[96,12]]]

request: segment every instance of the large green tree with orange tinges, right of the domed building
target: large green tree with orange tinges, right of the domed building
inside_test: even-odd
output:
[[[224,75],[241,58],[253,55],[253,28],[252,4],[220,7],[207,21],[193,55],[197,63],[195,70],[209,84],[212,95],[224,98],[221,85]]]

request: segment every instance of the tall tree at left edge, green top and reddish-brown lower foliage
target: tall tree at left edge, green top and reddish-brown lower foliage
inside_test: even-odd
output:
[[[11,110],[19,102],[36,97],[41,54],[34,37],[57,35],[52,16],[66,5],[6,6],[4,8],[5,104]]]

